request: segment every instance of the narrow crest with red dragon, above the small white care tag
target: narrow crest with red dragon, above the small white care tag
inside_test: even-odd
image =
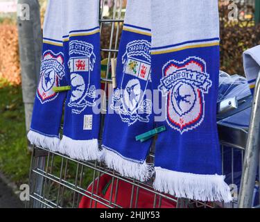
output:
[[[69,44],[69,69],[71,71],[71,99],[73,114],[80,114],[87,106],[94,106],[96,87],[89,85],[96,56],[94,46],[88,42],[71,41]]]

